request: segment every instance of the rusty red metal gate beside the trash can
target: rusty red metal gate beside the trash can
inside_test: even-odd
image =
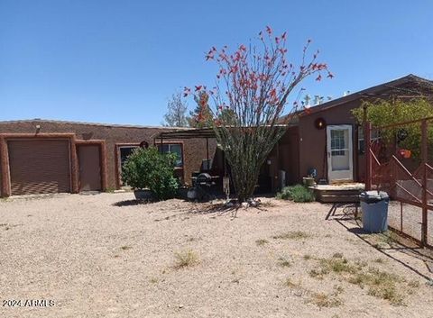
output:
[[[433,117],[381,127],[365,123],[364,132],[366,189],[388,192],[389,226],[431,248]]]

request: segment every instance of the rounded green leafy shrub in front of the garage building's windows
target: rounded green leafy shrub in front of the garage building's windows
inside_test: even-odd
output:
[[[148,188],[157,200],[170,199],[179,188],[175,161],[175,154],[163,154],[156,147],[137,148],[124,163],[122,179],[135,189]]]

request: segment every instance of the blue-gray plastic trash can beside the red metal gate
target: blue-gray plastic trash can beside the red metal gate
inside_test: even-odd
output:
[[[366,232],[388,230],[388,204],[390,197],[383,191],[364,191],[359,195],[363,211],[363,228]]]

